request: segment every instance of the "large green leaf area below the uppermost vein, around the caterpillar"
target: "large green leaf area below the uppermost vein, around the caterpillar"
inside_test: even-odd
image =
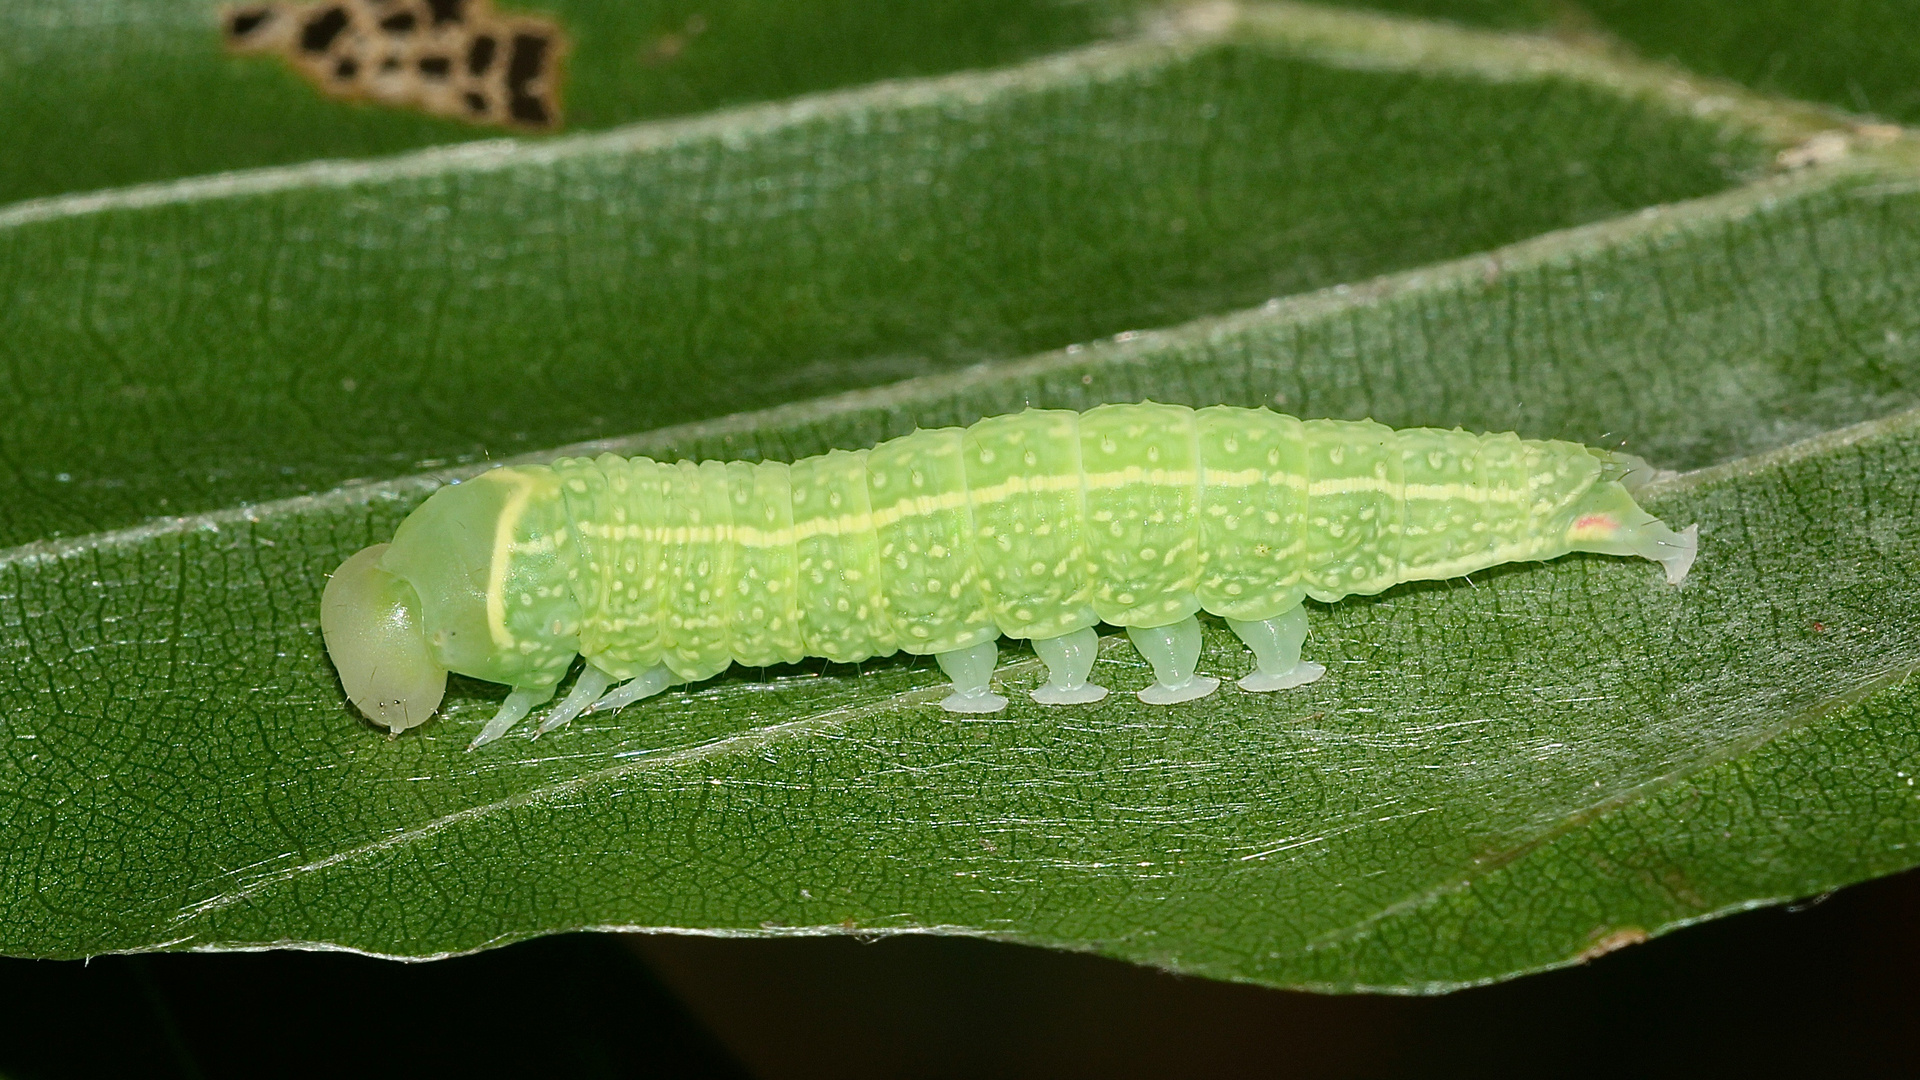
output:
[[[1438,990],[1912,865],[1920,177],[1905,142],[1763,175],[1824,123],[1258,8],[0,209],[0,951],[952,932]],[[1624,442],[1692,469],[1647,502],[1701,559],[1321,605],[1329,678],[1179,709],[1025,703],[1012,648],[987,721],[893,657],[463,753],[503,688],[386,740],[321,648],[324,575],[449,475],[422,457],[622,427],[787,457],[1146,396]],[[1202,665],[1246,657],[1213,625]],[[1102,667],[1146,682],[1117,638]]]

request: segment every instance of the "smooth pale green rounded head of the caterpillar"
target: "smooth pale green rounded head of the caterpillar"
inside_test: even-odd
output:
[[[447,669],[426,640],[419,594],[380,567],[386,550],[365,548],[334,571],[321,594],[321,634],[353,705],[399,734],[440,707]]]

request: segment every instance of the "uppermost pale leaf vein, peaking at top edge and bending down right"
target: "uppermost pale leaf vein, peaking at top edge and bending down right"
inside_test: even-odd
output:
[[[900,111],[941,104],[987,106],[1010,94],[1033,94],[1085,79],[1117,79],[1177,63],[1225,40],[1267,46],[1329,67],[1417,71],[1488,83],[1567,79],[1620,98],[1661,102],[1676,115],[1716,119],[1788,148],[1845,129],[1885,129],[1830,106],[1759,94],[1668,63],[1613,50],[1569,44],[1540,35],[1476,31],[1404,15],[1319,8],[1290,0],[1254,4],[1198,2],[1177,8],[1146,33],[1094,42],[1052,56],[924,79],[887,79],[845,90],[803,94],[716,110],[693,117],[641,121],[611,131],[543,138],[484,138],[428,146],[374,160],[323,160],[265,165],[60,194],[0,206],[0,229],[184,202],[217,202],[303,188],[349,188],[455,173],[495,173],[568,160],[668,150],[693,142],[737,142],[822,119]]]

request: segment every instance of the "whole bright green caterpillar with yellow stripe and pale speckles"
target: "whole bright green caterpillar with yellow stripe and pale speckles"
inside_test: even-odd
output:
[[[1152,402],[791,465],[563,457],[436,492],[334,573],[321,626],[348,698],[396,734],[449,671],[511,684],[472,746],[553,698],[576,655],[540,732],[732,663],[900,650],[935,655],[947,709],[991,713],[1002,634],[1046,663],[1035,701],[1098,701],[1098,623],[1152,665],[1140,700],[1171,705],[1219,684],[1194,673],[1202,609],[1254,651],[1240,688],[1267,692],[1325,673],[1300,659],[1304,598],[1569,552],[1647,557],[1678,584],[1697,528],[1634,503],[1644,469],[1572,442]]]

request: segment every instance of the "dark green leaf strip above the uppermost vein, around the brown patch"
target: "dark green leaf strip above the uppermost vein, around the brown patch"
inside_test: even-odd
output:
[[[232,4],[244,8],[246,4]],[[541,0],[580,42],[568,131],[991,67],[1125,27],[1131,0]],[[0,202],[223,169],[365,158],[497,131],[338,102],[273,56],[236,56],[223,0],[0,4]],[[858,40],[860,48],[845,48]],[[666,48],[662,48],[666,46]],[[73,131],[86,138],[73,138]]]

